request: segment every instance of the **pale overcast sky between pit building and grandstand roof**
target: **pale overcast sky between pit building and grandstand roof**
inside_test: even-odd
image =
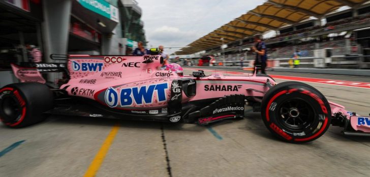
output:
[[[148,47],[186,46],[223,24],[262,5],[259,0],[136,0]]]

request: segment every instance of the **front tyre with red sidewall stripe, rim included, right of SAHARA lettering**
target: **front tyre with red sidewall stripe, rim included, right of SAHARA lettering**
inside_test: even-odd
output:
[[[318,139],[331,121],[329,102],[324,95],[296,81],[273,86],[262,99],[261,114],[273,135],[292,143]]]

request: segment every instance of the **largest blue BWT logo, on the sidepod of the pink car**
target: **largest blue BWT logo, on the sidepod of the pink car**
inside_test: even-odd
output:
[[[105,103],[111,108],[118,106],[118,99],[121,107],[131,106],[133,103],[136,103],[137,105],[150,104],[152,103],[155,91],[157,91],[157,101],[163,102],[167,100],[167,89],[168,83],[121,89],[119,93],[114,88],[109,87],[105,91],[104,100]]]

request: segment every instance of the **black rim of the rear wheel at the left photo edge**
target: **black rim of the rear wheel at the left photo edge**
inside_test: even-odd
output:
[[[2,117],[5,122],[13,122],[21,115],[21,106],[14,97],[3,98],[3,104],[1,105],[4,116]]]

